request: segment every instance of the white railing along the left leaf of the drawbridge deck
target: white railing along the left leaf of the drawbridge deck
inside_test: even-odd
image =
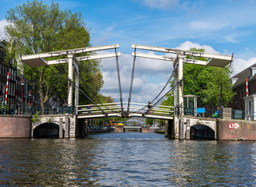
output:
[[[76,108],[78,114],[100,114],[110,112],[121,112],[120,103],[106,103],[106,104],[86,104],[79,105]]]

